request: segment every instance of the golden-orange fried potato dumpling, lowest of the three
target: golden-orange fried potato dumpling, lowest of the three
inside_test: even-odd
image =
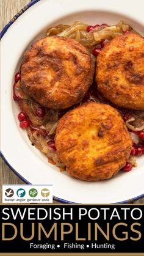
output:
[[[111,178],[128,161],[132,141],[120,113],[107,104],[85,103],[59,120],[57,154],[79,180]]]

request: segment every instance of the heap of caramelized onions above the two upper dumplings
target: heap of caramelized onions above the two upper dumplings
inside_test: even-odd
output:
[[[74,38],[77,42],[92,50],[93,46],[104,39],[112,39],[127,30],[131,31],[131,27],[123,21],[120,21],[114,26],[97,26],[89,32],[87,31],[87,26],[87,24],[81,21],[74,21],[71,26],[59,24],[58,26],[49,27],[46,35],[59,35],[61,37]]]

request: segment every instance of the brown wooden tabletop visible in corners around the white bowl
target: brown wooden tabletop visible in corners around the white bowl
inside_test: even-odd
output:
[[[28,4],[29,0],[0,0],[1,4],[1,24],[0,30],[7,24],[13,16],[21,10],[26,4]],[[18,178],[12,170],[4,163],[2,159],[0,159],[0,185],[2,188],[2,184],[24,184],[20,178]],[[123,188],[121,188],[123,189]],[[1,190],[0,190],[0,202],[1,199]],[[54,202],[57,203],[57,202]],[[135,203],[144,203],[143,199],[135,201]]]

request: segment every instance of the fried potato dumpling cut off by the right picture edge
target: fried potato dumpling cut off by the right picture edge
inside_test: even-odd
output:
[[[96,82],[117,106],[144,109],[144,38],[129,32],[104,46],[97,58]]]

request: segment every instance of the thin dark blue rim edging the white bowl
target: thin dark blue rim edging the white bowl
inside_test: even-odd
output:
[[[4,34],[7,32],[7,30],[9,29],[9,27],[21,16],[23,15],[24,12],[26,12],[27,9],[29,9],[30,7],[32,7],[32,5],[36,4],[37,2],[39,2],[40,0],[31,0],[31,2],[29,2],[29,4],[25,5],[23,7],[23,9],[20,10],[20,12],[16,13],[15,16],[13,16],[12,20],[9,21],[9,23],[7,23],[4,28],[2,29],[2,31],[0,32],[0,39],[4,36]],[[19,172],[17,172],[9,163],[9,161],[5,158],[5,156],[2,154],[2,152],[0,152],[0,156],[1,158],[4,160],[5,164],[16,174],[16,176],[18,176],[22,181],[24,181],[24,183],[26,183],[27,185],[31,185],[31,183],[29,181],[26,180],[26,178],[24,178],[21,174],[19,174]],[[123,200],[121,202],[115,202],[115,203],[133,203],[135,200],[141,199],[142,197],[144,197],[144,194],[141,194],[139,196],[133,197],[132,199],[128,199],[128,200]],[[78,204],[76,202],[71,202],[65,199],[61,199],[59,197],[53,196],[53,200],[56,200],[57,202],[60,203],[72,203],[72,204]],[[115,203],[110,203],[110,204],[115,204]]]

